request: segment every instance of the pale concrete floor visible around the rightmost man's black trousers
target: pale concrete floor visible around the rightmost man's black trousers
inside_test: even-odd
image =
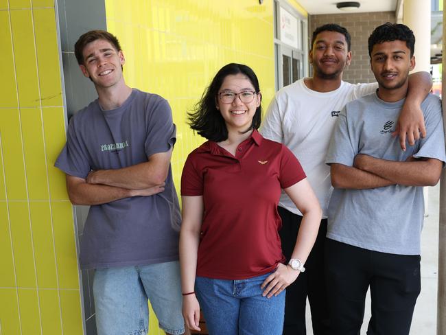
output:
[[[416,301],[411,335],[436,335],[436,294],[438,268],[438,215],[440,185],[428,188],[428,210],[421,234],[421,294]],[[365,335],[371,317],[370,297],[367,294],[366,312],[361,334]],[[312,321],[307,308],[307,335],[313,335]]]

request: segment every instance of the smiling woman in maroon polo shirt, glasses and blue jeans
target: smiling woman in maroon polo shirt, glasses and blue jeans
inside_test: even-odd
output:
[[[263,139],[261,93],[246,65],[228,64],[213,78],[191,128],[208,139],[183,170],[180,263],[183,316],[211,335],[282,334],[285,288],[318,233],[321,210],[301,165],[281,143]],[[277,204],[281,189],[303,213],[290,264],[283,264]]]

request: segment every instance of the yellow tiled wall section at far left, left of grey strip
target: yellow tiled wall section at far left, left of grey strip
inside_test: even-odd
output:
[[[82,334],[52,0],[0,0],[0,333]]]

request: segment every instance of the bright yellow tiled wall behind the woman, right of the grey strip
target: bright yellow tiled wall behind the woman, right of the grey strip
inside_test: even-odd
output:
[[[187,154],[203,139],[186,124],[215,73],[228,62],[251,67],[260,82],[263,108],[274,95],[272,0],[106,0],[107,30],[126,56],[130,86],[169,100],[177,126],[174,181]]]

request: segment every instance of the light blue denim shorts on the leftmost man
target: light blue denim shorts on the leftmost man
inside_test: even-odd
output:
[[[99,268],[93,281],[98,335],[145,335],[148,300],[167,334],[185,332],[178,261]]]

